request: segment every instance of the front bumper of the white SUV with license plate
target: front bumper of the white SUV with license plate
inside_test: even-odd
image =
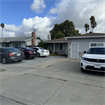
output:
[[[96,63],[81,60],[80,67],[87,71],[105,72],[105,63]]]

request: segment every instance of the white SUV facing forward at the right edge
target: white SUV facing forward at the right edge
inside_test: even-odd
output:
[[[105,72],[105,47],[93,47],[84,53],[81,57],[81,71]]]

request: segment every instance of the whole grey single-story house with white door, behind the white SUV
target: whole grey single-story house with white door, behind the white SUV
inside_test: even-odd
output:
[[[58,53],[65,53],[68,58],[80,59],[83,51],[90,47],[105,46],[105,33],[87,33],[54,40],[47,40],[48,49]]]

